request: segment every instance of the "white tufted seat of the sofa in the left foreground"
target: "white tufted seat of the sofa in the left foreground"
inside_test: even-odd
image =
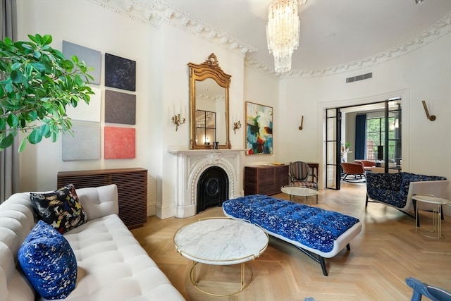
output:
[[[166,275],[116,214],[64,235],[78,262],[77,288],[66,300],[180,300]],[[145,296],[145,297],[144,297]]]

